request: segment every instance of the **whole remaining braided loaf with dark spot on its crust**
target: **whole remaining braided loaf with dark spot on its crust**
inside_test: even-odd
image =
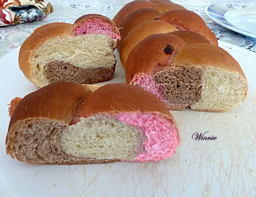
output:
[[[130,14],[115,16],[123,28],[118,49],[127,83],[157,95],[170,110],[224,112],[239,106],[247,95],[246,77],[204,20],[170,1],[150,2],[149,8],[136,8],[134,1]]]

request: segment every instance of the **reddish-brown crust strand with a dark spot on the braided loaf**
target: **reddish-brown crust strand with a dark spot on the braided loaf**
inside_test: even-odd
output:
[[[126,82],[130,83],[138,73],[153,76],[169,66],[176,53],[186,46],[183,39],[170,33],[149,35],[130,52],[126,63]],[[166,51],[167,47],[173,47],[172,53]]]

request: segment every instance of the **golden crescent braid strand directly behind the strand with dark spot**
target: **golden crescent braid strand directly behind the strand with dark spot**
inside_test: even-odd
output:
[[[171,24],[164,21],[151,20],[139,24],[136,28],[128,33],[121,45],[120,60],[124,69],[126,67],[128,55],[130,51],[132,51],[133,47],[136,46],[136,44],[138,44],[148,35],[156,33],[170,33],[174,31],[177,31],[177,29]]]

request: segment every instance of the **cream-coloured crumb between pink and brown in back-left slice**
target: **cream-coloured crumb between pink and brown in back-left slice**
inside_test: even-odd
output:
[[[31,55],[32,77],[40,87],[48,85],[45,66],[56,61],[81,69],[111,68],[115,47],[116,40],[100,33],[48,39]]]

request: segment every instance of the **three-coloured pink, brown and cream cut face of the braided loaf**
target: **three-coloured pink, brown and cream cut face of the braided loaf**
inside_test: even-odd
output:
[[[225,112],[238,107],[247,90],[238,72],[182,64],[165,67],[153,77],[139,73],[132,84],[156,95],[170,110],[191,106],[194,110]]]

